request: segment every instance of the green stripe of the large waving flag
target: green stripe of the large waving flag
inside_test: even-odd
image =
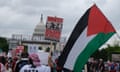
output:
[[[114,33],[99,33],[93,38],[85,47],[85,49],[79,54],[74,65],[74,72],[82,71],[84,64],[87,62],[88,58],[100,48]]]

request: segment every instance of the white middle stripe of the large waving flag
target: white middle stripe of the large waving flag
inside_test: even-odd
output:
[[[64,68],[68,68],[70,70],[73,70],[76,58],[78,55],[84,50],[86,45],[95,37],[96,35],[92,35],[87,37],[87,28],[82,32],[82,34],[79,36],[75,44],[73,45],[73,48],[71,49],[67,60],[65,62]]]

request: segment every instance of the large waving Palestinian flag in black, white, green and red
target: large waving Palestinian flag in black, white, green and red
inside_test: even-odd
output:
[[[58,67],[82,71],[88,58],[115,34],[115,29],[100,9],[93,5],[78,21],[63,52]],[[67,72],[67,71],[64,71]],[[70,71],[68,71],[70,72]]]

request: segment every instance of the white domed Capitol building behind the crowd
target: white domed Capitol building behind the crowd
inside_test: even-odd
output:
[[[14,49],[19,45],[38,45],[40,49],[53,48],[61,51],[66,43],[66,37],[61,37],[60,42],[45,40],[46,26],[43,22],[43,15],[41,14],[40,22],[35,26],[32,35],[13,34],[12,38],[8,39],[9,49]]]

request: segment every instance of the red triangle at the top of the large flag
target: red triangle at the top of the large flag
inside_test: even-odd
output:
[[[93,5],[89,13],[87,36],[109,32],[115,32],[115,29],[99,8]]]

